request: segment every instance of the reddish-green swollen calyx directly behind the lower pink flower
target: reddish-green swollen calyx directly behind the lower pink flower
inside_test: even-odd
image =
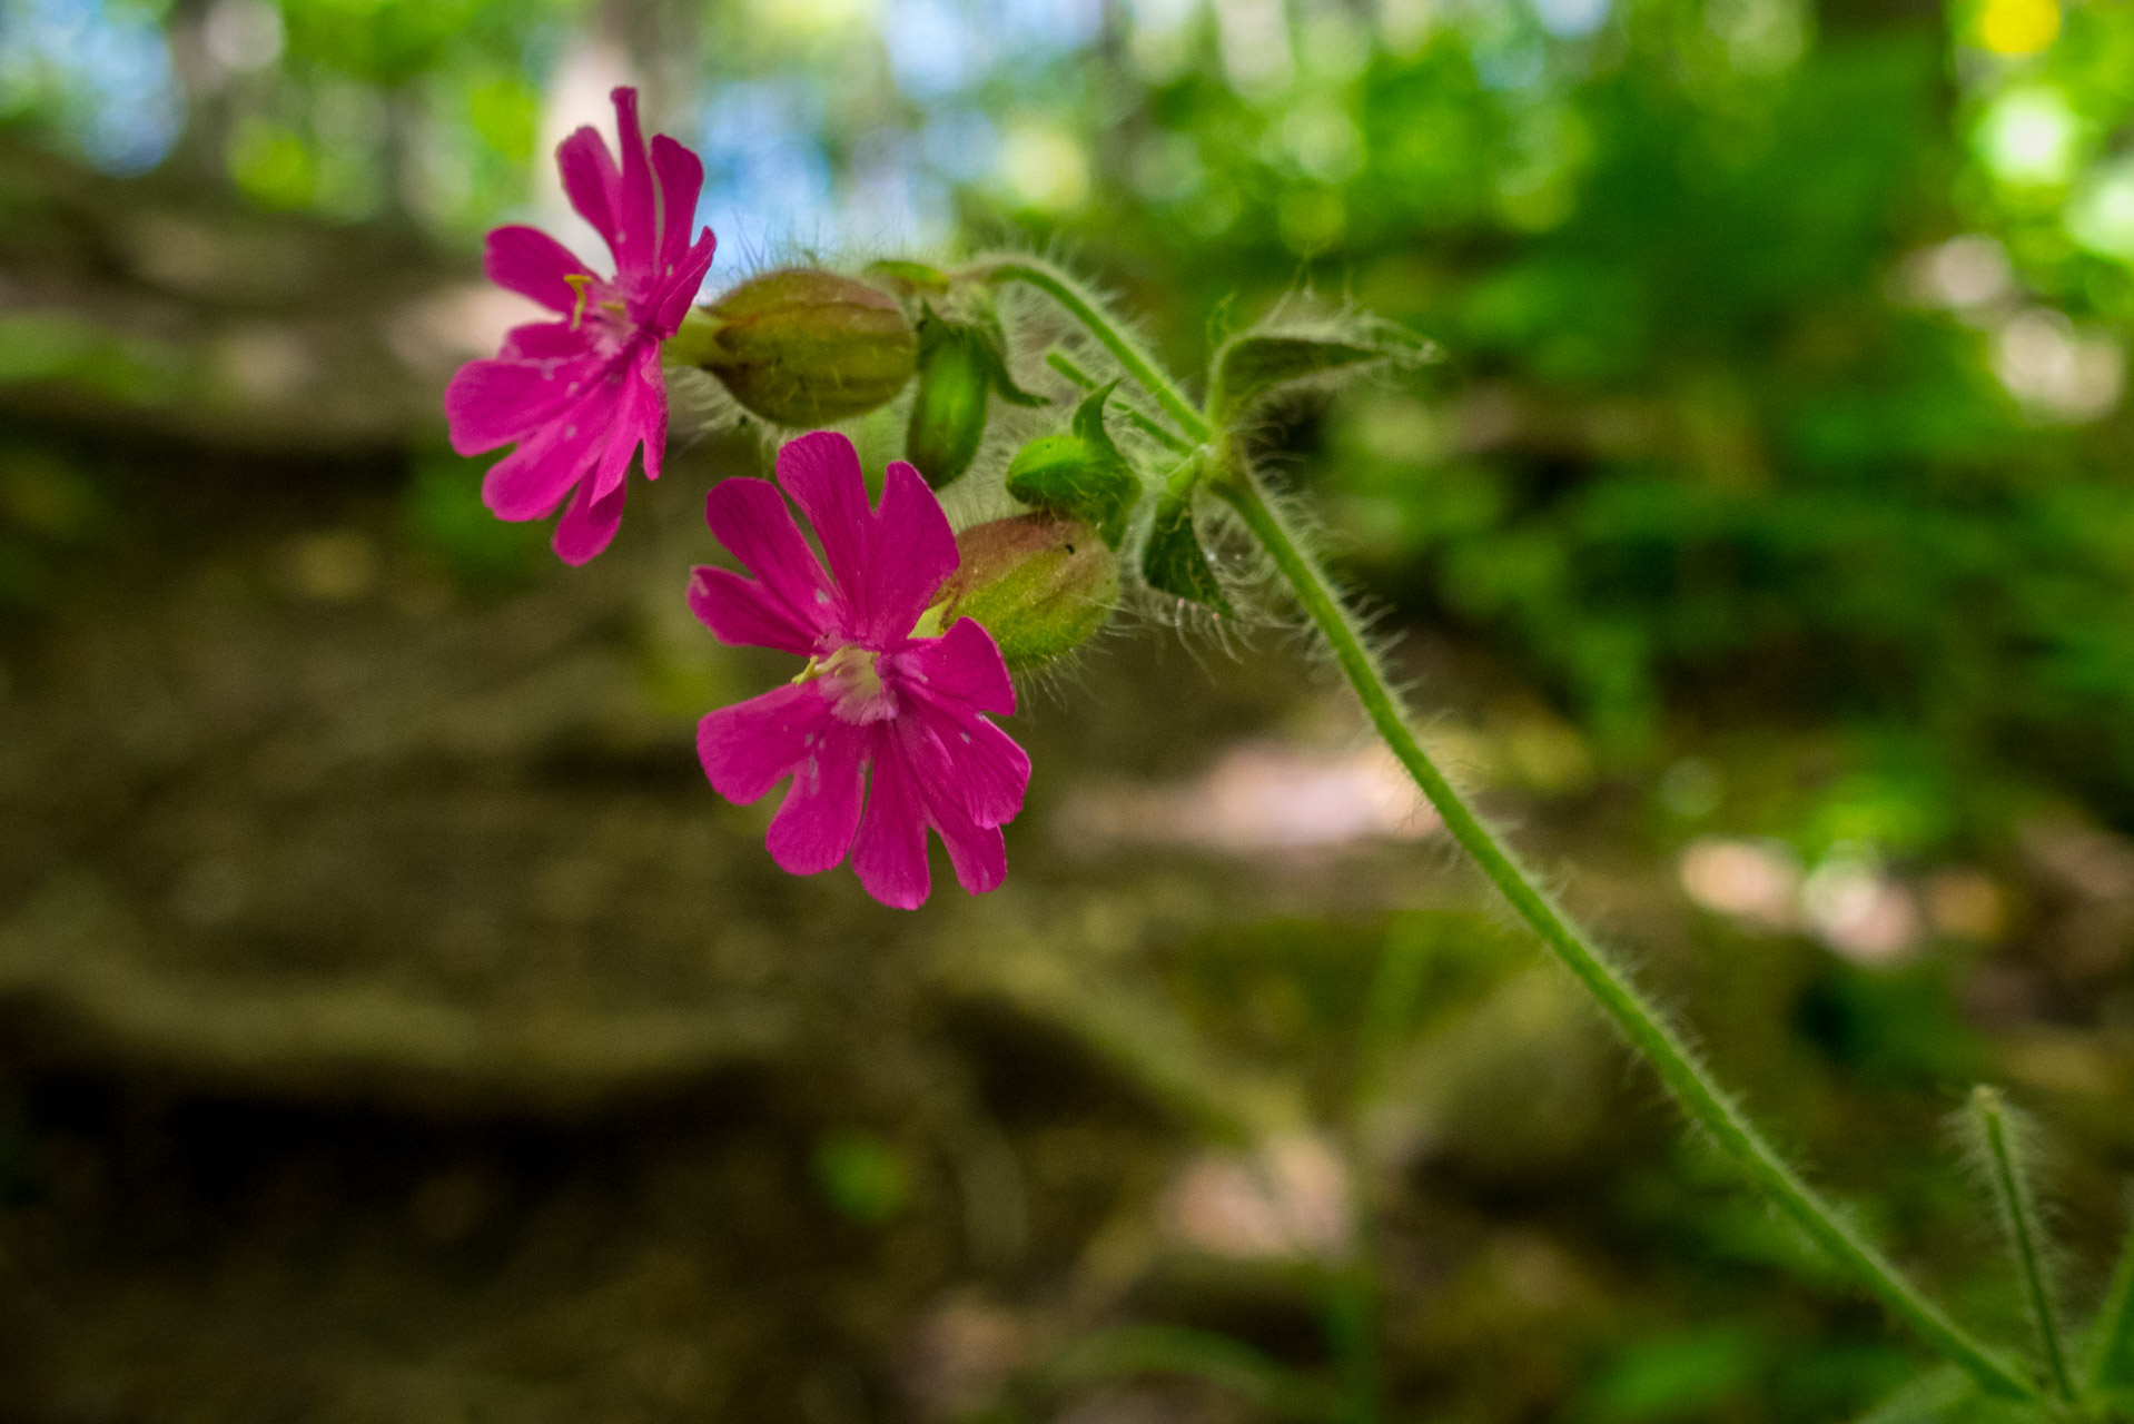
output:
[[[994,519],[958,534],[956,551],[941,628],[977,619],[1016,673],[1073,651],[1118,604],[1118,559],[1080,519]]]

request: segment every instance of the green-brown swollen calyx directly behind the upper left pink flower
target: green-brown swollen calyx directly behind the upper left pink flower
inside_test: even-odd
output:
[[[896,399],[911,380],[918,337],[888,292],[792,267],[691,312],[668,359],[717,376],[749,414],[815,429]]]

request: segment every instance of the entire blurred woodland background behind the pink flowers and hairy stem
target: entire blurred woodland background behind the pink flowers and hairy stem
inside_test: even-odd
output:
[[[1432,743],[2012,1332],[1944,1134],[2010,1085],[2093,1300],[2134,9],[0,0],[0,1418],[1261,1418],[1046,1371],[1140,1322],[1327,1377],[1357,1172],[1387,1418],[1918,1364],[1278,626],[1026,690],[1001,892],[781,875],[691,728],[785,670],[681,604],[753,442],[566,570],[442,440],[514,318],[480,233],[589,239],[546,154],[619,81],[704,152],[715,288],[1050,246],[1184,371],[1300,286],[1436,339],[1268,431]]]

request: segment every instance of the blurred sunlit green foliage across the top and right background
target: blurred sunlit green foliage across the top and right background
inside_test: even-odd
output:
[[[87,143],[96,53],[38,36],[149,13],[9,0],[0,109]],[[1300,280],[1355,299],[1451,363],[1287,431],[1344,561],[1492,640],[1605,764],[1769,728],[1837,773],[1726,820],[1807,854],[1991,845],[2040,796],[2134,816],[2123,6],[1018,0],[988,26],[958,0],[216,0],[162,23],[173,162],[207,135],[262,207],[465,243],[634,75],[706,154],[702,218],[740,263],[1065,239],[1182,369],[1210,312]],[[85,331],[11,348],[81,363]],[[1844,830],[1861,784],[1886,816]]]

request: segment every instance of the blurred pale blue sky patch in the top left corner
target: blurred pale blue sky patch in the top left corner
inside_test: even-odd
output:
[[[154,15],[109,0],[0,0],[0,109],[43,109],[109,173],[154,169],[186,120]]]

